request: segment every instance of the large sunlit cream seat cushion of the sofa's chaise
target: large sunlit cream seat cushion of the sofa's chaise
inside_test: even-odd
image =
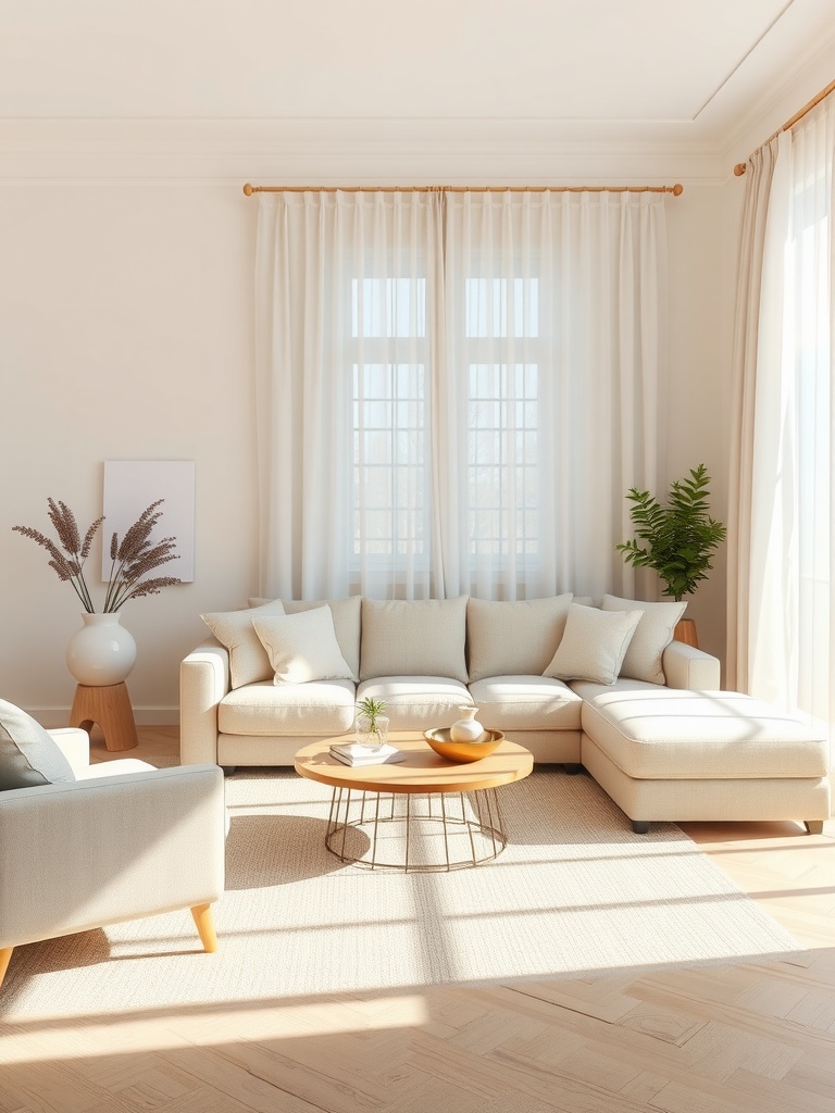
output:
[[[582,705],[582,729],[639,779],[825,777],[823,731],[750,696],[726,691],[607,689]]]

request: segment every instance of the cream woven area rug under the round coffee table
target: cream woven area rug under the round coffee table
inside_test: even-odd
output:
[[[802,961],[676,826],[633,835],[590,777],[540,767],[499,792],[503,854],[404,875],[325,849],[330,789],[293,770],[242,770],[226,781],[217,954],[203,953],[188,910],[31,944],[14,952],[0,1015]]]

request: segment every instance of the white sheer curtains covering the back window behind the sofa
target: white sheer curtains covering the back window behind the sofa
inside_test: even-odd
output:
[[[262,195],[261,590],[630,590],[665,263],[654,194]]]

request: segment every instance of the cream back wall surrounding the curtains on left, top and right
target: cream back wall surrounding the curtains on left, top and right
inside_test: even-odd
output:
[[[46,553],[12,533],[47,528],[47,498],[86,526],[106,460],[196,463],[195,579],[124,610],[138,646],[137,721],[176,722],[178,664],[199,613],[257,590],[253,270],[257,200],[287,184],[681,181],[667,199],[669,336],[665,480],[704,461],[726,520],[735,263],[744,185],[731,175],[832,75],[821,57],[723,155],[560,152],[483,125],[433,125],[397,144],[379,124],[0,122],[0,336],[7,421],[0,500],[0,696],[67,721],[65,664],[81,624]],[[827,76],[828,75],[828,76]],[[331,125],[332,127],[333,125]],[[94,550],[90,567],[98,567]],[[174,571],[174,568],[171,568]],[[95,577],[94,583],[98,584]],[[724,656],[725,552],[689,604]]]

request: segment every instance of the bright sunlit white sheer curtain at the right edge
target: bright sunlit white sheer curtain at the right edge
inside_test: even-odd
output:
[[[835,99],[779,137],[754,406],[748,690],[833,718]]]

